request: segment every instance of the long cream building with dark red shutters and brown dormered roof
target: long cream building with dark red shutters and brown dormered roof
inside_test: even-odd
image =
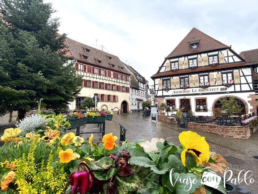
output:
[[[69,105],[77,109],[86,97],[99,96],[99,110],[130,110],[130,73],[120,59],[110,53],[66,38],[67,56],[75,60],[78,75],[83,76],[83,87],[76,101]]]

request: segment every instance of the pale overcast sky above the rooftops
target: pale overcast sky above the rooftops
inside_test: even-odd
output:
[[[255,0],[46,0],[60,33],[119,57],[149,84],[164,58],[195,27],[240,53],[258,48]],[[96,42],[97,40],[97,42]],[[96,46],[97,45],[97,46]]]

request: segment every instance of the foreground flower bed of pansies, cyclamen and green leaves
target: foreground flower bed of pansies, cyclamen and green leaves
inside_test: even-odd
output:
[[[179,134],[178,146],[153,138],[121,147],[112,133],[99,144],[92,134],[84,140],[52,129],[45,138],[32,132],[18,138],[19,133],[10,128],[1,137],[0,158],[9,159],[0,163],[1,189],[13,193],[205,193],[210,188],[201,184],[204,172],[223,174],[226,168],[223,157],[191,131]],[[226,193],[222,181],[218,190]]]

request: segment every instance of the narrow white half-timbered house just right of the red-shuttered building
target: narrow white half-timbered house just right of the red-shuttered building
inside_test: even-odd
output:
[[[128,72],[131,74],[130,78],[130,107],[131,112],[138,112],[142,110],[142,102],[145,101],[145,78],[141,76],[132,66],[123,63]]]

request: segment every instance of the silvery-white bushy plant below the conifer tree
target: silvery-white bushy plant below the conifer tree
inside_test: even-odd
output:
[[[43,126],[45,123],[45,118],[41,115],[34,114],[30,115],[22,120],[20,120],[20,123],[15,124],[17,128],[21,130],[21,134],[26,134],[31,131],[34,131],[36,128]]]

